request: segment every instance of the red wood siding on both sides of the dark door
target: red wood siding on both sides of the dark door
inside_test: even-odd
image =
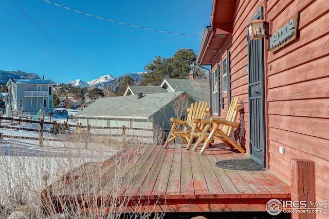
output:
[[[322,201],[329,197],[326,186],[329,185],[329,5],[327,0],[237,1],[232,35],[220,49],[222,55],[230,51],[231,97],[239,97],[244,107],[246,153],[249,153],[246,27],[261,6],[270,22],[270,33],[299,13],[296,41],[270,53],[269,38],[264,39],[267,168],[290,184],[291,158],[314,161],[316,199]],[[212,67],[221,61],[220,56],[215,57]],[[222,116],[227,108],[225,98]],[[279,153],[279,147],[285,148],[285,154]],[[318,214],[317,218],[324,215]]]

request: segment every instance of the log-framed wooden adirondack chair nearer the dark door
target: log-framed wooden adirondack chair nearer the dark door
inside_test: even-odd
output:
[[[190,133],[191,138],[194,138],[195,136],[198,137],[198,140],[194,144],[193,150],[196,151],[200,143],[206,140],[200,150],[200,153],[203,154],[213,139],[219,139],[230,148],[236,148],[240,152],[244,153],[245,149],[231,138],[233,129],[239,127],[239,124],[235,123],[235,120],[240,109],[241,105],[237,105],[237,97],[235,97],[231,101],[226,117],[195,118],[195,122],[200,122],[205,124],[205,126],[202,132]],[[214,124],[214,126],[211,127],[211,124]],[[218,129],[220,125],[223,125],[222,129]]]

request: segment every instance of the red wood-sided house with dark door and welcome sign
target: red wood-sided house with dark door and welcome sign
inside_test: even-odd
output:
[[[211,66],[213,116],[239,97],[246,153],[289,185],[291,158],[314,161],[315,178],[301,177],[316,183],[318,202],[329,197],[328,16],[322,0],[214,0],[197,55]],[[269,22],[268,36],[250,40],[254,19]]]

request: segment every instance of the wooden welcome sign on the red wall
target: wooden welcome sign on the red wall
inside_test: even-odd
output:
[[[269,38],[269,49],[275,52],[297,38],[298,13],[290,17],[280,28],[272,33]]]

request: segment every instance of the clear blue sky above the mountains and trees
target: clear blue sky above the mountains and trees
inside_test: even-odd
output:
[[[212,8],[212,0],[48,1],[117,22],[197,36],[210,25]],[[155,56],[171,57],[183,48],[197,54],[202,40],[105,21],[44,0],[0,1],[0,30],[1,70],[32,72],[58,84],[144,71]]]

